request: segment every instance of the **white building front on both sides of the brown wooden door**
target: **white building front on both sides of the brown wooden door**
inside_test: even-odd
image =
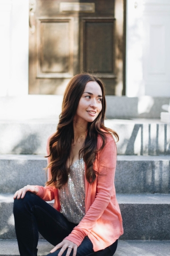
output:
[[[14,97],[29,95],[29,4],[29,0],[0,2],[0,97],[6,104]],[[170,2],[127,0],[125,11],[123,98],[140,99],[140,114],[145,111],[140,106],[148,111],[155,97],[161,97],[162,103],[170,97]],[[122,90],[116,95],[121,97]]]

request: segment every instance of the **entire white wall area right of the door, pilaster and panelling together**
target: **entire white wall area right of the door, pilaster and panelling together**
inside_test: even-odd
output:
[[[170,1],[128,0],[126,96],[170,97]]]

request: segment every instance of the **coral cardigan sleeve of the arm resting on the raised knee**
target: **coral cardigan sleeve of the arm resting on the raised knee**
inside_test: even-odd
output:
[[[50,163],[50,156],[49,156],[49,141],[50,138],[52,138],[54,134],[50,135],[50,137],[47,140],[47,163],[49,165]],[[51,173],[51,167],[48,167],[48,181],[52,179],[52,173]],[[36,188],[38,188],[38,193],[37,196],[39,196],[40,198],[44,199],[45,201],[52,201],[54,199],[54,189],[56,189],[54,186],[35,186]]]

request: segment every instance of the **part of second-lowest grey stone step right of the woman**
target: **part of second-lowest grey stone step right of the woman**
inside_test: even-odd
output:
[[[170,240],[170,195],[117,194],[123,240]]]

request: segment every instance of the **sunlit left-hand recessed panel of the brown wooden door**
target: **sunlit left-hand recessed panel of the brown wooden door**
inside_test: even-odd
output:
[[[73,76],[72,19],[38,20],[37,78]]]

